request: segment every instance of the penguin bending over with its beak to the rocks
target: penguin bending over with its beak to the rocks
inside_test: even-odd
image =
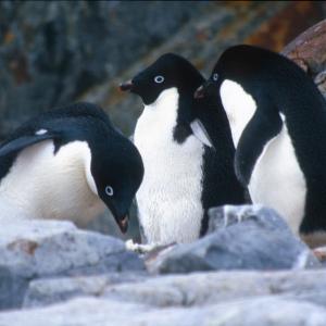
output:
[[[137,148],[101,108],[70,104],[30,118],[1,143],[1,217],[85,226],[106,206],[125,233],[142,176]]]

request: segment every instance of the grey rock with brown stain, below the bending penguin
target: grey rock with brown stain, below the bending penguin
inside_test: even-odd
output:
[[[1,221],[0,309],[20,306],[28,281],[59,275],[143,271],[123,241],[57,221]]]

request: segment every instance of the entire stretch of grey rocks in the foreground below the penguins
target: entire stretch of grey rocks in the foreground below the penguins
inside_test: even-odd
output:
[[[0,325],[325,325],[325,266],[281,217],[210,216],[202,239],[142,255],[66,222],[8,223]]]

